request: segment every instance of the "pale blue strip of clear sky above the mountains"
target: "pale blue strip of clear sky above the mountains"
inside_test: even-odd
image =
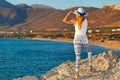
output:
[[[76,6],[102,8],[103,5],[116,4],[120,6],[120,0],[7,0],[12,4],[25,3],[27,5],[43,4],[56,9],[67,9]]]

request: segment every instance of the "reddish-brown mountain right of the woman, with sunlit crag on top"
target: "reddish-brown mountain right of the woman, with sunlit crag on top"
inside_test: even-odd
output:
[[[115,9],[115,7],[118,7],[118,6],[107,5],[107,6],[103,6],[102,9],[95,10],[92,13],[92,15],[98,18],[98,22],[93,23],[91,25],[106,26],[111,23],[119,22],[120,21],[120,16],[119,16],[120,9]],[[92,19],[92,16],[90,16],[90,18]]]

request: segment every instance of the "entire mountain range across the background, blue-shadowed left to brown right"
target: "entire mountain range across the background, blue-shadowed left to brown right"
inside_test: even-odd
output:
[[[57,10],[55,8],[34,4],[28,6],[24,3],[13,5],[6,0],[0,0],[0,26],[8,26],[10,29],[65,29],[68,26],[62,19],[70,9]],[[120,6],[105,5],[103,8],[84,7],[88,12],[89,26],[119,26]],[[72,15],[73,16],[73,15]],[[95,21],[97,19],[97,22]]]

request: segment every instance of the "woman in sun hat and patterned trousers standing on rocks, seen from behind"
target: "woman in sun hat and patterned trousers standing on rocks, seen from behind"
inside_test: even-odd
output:
[[[68,17],[71,14],[75,14],[75,18],[68,20]],[[69,11],[67,15],[64,17],[63,22],[67,24],[73,24],[75,26],[75,35],[74,35],[74,51],[76,55],[76,75],[75,77],[79,77],[79,69],[80,69],[80,54],[81,54],[81,46],[85,47],[88,52],[89,58],[89,66],[90,71],[93,70],[92,67],[92,52],[90,50],[90,46],[88,43],[88,38],[86,35],[88,22],[85,16],[87,16],[87,12],[83,8],[78,8],[77,10]]]

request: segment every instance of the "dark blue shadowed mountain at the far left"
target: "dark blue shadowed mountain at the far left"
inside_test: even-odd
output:
[[[12,5],[6,0],[0,0],[0,26],[13,26],[23,23],[27,18],[25,10]]]

